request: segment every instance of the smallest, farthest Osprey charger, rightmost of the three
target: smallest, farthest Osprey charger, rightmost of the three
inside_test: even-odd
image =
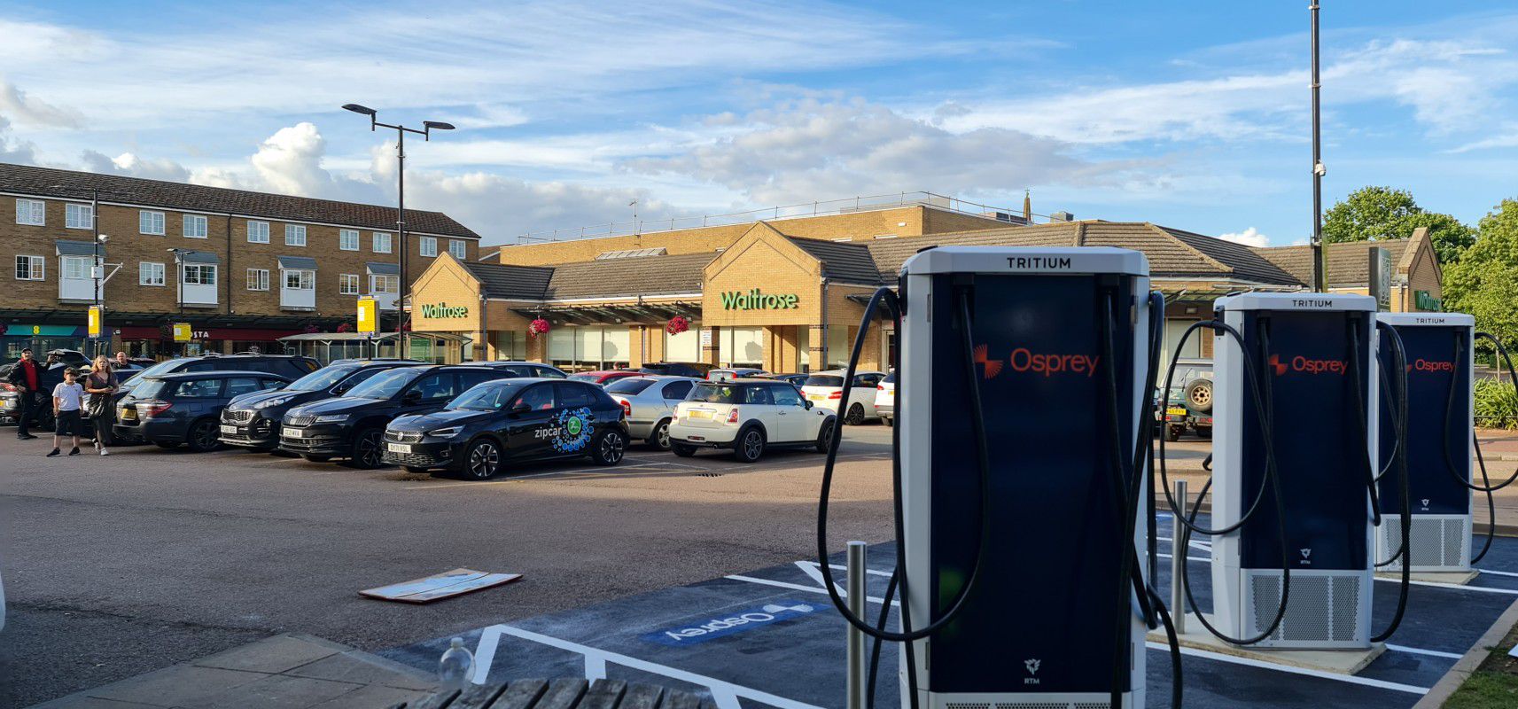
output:
[[[1381,519],[1375,557],[1383,569],[1416,572],[1471,571],[1471,454],[1474,445],[1475,317],[1463,313],[1380,313],[1377,320],[1401,337],[1407,377],[1407,487],[1412,524],[1406,554],[1401,539],[1400,486],[1383,475]],[[1397,364],[1381,348],[1380,366],[1397,377]],[[1380,427],[1381,449],[1395,446],[1397,433]],[[1453,475],[1453,477],[1451,477]],[[1460,484],[1460,483],[1466,484]],[[1395,557],[1395,559],[1394,559]]]

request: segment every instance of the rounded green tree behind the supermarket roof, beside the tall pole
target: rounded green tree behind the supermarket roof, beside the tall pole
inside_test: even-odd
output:
[[[1475,241],[1475,229],[1448,214],[1424,211],[1407,190],[1362,187],[1324,213],[1324,241],[1407,238],[1428,228],[1439,263],[1453,264]]]

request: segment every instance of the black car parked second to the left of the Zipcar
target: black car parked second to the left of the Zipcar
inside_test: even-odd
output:
[[[342,396],[370,377],[416,360],[337,360],[278,392],[238,396],[222,410],[222,443],[258,451],[279,446],[279,421],[285,411],[313,401]]]

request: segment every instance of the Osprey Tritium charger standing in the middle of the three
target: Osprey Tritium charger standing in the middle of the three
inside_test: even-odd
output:
[[[1214,348],[1211,524],[1227,528],[1254,507],[1236,533],[1213,540],[1216,629],[1233,638],[1261,636],[1286,594],[1284,616],[1252,647],[1366,650],[1372,462],[1380,439],[1369,434],[1380,431],[1375,299],[1242,293],[1217,299],[1214,308],[1216,320],[1243,342],[1240,348],[1219,337]],[[1246,357],[1257,366],[1248,367]],[[1251,405],[1251,369],[1264,422],[1261,408]],[[1257,495],[1274,495],[1263,480],[1268,454],[1275,458],[1280,507],[1255,506]]]

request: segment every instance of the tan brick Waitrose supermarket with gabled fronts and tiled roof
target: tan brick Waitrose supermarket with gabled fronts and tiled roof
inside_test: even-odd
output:
[[[1248,247],[1152,223],[1026,225],[935,205],[761,220],[572,241],[513,244],[498,257],[433,263],[413,290],[413,334],[458,342],[445,357],[533,360],[569,370],[651,361],[808,372],[846,364],[868,296],[896,285],[931,246],[1119,246],[1142,251],[1166,293],[1167,340],[1237,290],[1304,290],[1305,247]],[[1392,310],[1438,310],[1439,264],[1427,235],[1333,244],[1330,285],[1365,291],[1369,246],[1390,252]],[[671,332],[676,319],[689,323]],[[543,320],[548,331],[533,334]],[[861,367],[890,361],[896,332],[877,320]],[[439,342],[443,342],[442,339]],[[1169,345],[1169,342],[1167,342]],[[1210,339],[1187,355],[1210,357]],[[1169,351],[1169,346],[1166,348]]]

